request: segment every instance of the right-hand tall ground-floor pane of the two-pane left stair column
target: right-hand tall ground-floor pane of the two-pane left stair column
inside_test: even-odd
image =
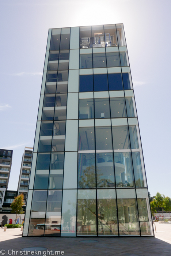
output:
[[[45,236],[60,236],[62,190],[49,190],[46,208]]]

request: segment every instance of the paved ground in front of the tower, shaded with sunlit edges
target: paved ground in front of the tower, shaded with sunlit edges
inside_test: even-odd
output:
[[[46,247],[55,255],[55,251],[64,251],[67,256],[171,256],[171,225],[156,223],[155,237],[22,237],[20,229],[0,229],[0,252],[4,255],[26,247]],[[96,240],[96,243],[83,243],[81,240]],[[17,253],[18,255],[19,253]],[[11,254],[12,255],[12,254]],[[13,253],[14,255],[14,253]],[[15,254],[16,255],[16,254]],[[56,253],[57,255],[57,253]],[[58,255],[62,255],[59,254]]]

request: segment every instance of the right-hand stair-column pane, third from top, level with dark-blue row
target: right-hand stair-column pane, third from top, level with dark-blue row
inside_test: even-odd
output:
[[[57,93],[67,93],[68,91],[68,70],[58,71]]]

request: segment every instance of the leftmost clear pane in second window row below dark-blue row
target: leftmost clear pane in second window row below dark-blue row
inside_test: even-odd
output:
[[[78,150],[95,150],[94,127],[79,127]]]

